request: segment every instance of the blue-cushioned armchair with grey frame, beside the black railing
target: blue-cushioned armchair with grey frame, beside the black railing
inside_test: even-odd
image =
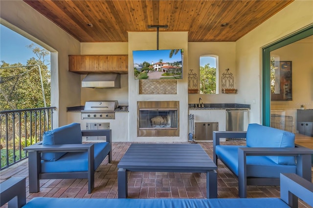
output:
[[[106,142],[82,144],[83,136],[106,136]],[[27,146],[29,192],[38,192],[40,179],[87,178],[88,192],[94,187],[94,171],[109,155],[112,159],[111,129],[81,130],[72,123],[46,131],[43,141]]]

